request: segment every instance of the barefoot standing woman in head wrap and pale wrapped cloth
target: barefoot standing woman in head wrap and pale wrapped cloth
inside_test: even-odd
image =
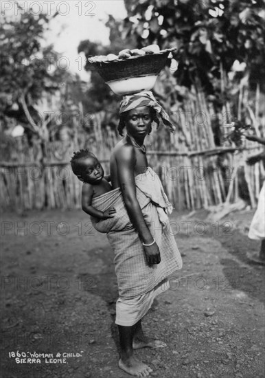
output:
[[[130,375],[141,377],[148,376],[152,369],[135,358],[133,349],[165,346],[163,342],[152,340],[143,334],[141,318],[150,309],[154,297],[163,289],[168,289],[165,287],[166,277],[182,267],[181,255],[169,222],[163,224],[161,219],[159,221],[153,201],[148,210],[142,210],[137,199],[137,182],[146,180],[143,190],[149,184],[152,187],[153,175],[156,189],[150,194],[150,198],[163,197],[168,205],[159,178],[148,167],[144,146],[152,122],[159,123],[157,114],[172,131],[174,126],[168,114],[151,92],[126,96],[121,103],[119,122],[119,133],[122,135],[126,129],[126,135],[115,146],[110,161],[113,189],[120,188],[122,191],[124,205],[133,225],[130,230],[108,234],[115,252],[115,271],[119,286],[116,306],[116,324],[119,327],[121,346],[119,367]],[[155,180],[159,180],[160,184],[155,184]]]

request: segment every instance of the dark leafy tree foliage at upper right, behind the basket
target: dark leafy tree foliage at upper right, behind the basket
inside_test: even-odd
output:
[[[215,81],[220,79],[220,65],[228,72],[235,60],[246,63],[251,85],[264,85],[263,1],[124,2],[128,11],[124,26],[127,34],[137,36],[139,47],[151,43],[161,48],[177,47],[174,76],[179,85],[190,87],[198,77],[205,91],[212,94]]]

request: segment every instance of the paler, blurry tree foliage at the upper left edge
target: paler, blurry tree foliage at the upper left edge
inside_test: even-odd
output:
[[[43,91],[54,93],[69,78],[69,73],[58,67],[59,56],[52,45],[42,47],[48,25],[46,14],[30,11],[13,18],[3,15],[0,25],[1,111],[42,140],[49,137],[49,120],[40,119],[36,104]]]

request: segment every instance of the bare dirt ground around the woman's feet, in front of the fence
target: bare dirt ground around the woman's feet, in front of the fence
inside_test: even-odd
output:
[[[137,356],[161,378],[262,378],[264,267],[246,256],[260,247],[247,237],[253,210],[214,224],[206,215],[170,217],[183,269],[143,320],[168,346]],[[106,235],[81,210],[5,213],[1,227],[1,377],[129,377],[117,366]]]

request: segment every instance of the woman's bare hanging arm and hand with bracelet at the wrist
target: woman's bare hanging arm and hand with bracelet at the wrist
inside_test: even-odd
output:
[[[124,204],[130,221],[133,223],[139,238],[144,244],[151,244],[154,241],[146,222],[139,202],[136,197],[135,186],[135,151],[133,146],[122,146],[116,155],[117,178],[122,191]],[[161,261],[157,243],[150,246],[143,246],[148,264],[159,264]]]

